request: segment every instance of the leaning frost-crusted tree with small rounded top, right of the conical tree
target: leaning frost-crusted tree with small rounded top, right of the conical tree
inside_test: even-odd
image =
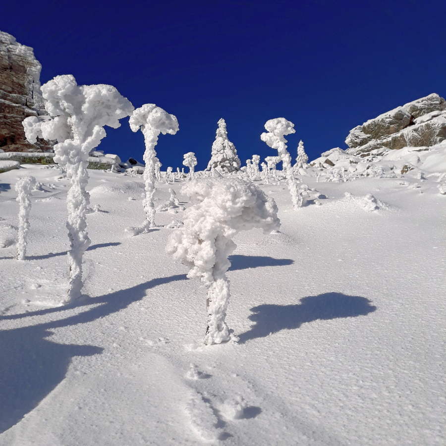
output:
[[[279,152],[279,157],[282,160],[283,170],[285,171],[286,180],[288,182],[288,189],[291,195],[294,209],[302,206],[302,197],[297,190],[296,179],[294,178],[293,167],[291,166],[291,155],[286,150],[286,139],[284,135],[295,133],[294,124],[287,121],[285,118],[270,119],[266,122],[265,128],[268,133],[262,133],[260,138],[266,142],[271,148]]]

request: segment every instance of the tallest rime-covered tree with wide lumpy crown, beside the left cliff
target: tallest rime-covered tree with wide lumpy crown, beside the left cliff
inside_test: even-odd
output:
[[[66,302],[71,302],[81,295],[82,256],[90,245],[86,218],[90,204],[86,191],[88,156],[106,136],[104,126],[119,127],[119,119],[128,116],[134,107],[111,85],[77,85],[70,74],[56,76],[43,85],[42,96],[50,116],[27,117],[23,127],[31,143],[37,137],[57,140],[54,160],[66,169],[70,180],[66,199],[70,241]]]

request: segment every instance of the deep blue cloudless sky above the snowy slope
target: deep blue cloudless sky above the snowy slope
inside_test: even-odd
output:
[[[0,30],[34,48],[42,83],[73,74],[177,116],[179,132],[156,147],[163,169],[190,151],[205,168],[221,117],[242,165],[275,154],[260,134],[281,116],[296,129],[293,159],[300,139],[314,159],[345,149],[367,119],[444,97],[445,18],[441,0],[0,3]],[[142,161],[143,136],[127,119],[106,130],[98,149]]]

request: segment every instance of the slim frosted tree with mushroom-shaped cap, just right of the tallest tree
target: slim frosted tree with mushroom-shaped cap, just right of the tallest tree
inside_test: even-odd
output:
[[[155,193],[156,161],[157,153],[155,146],[158,143],[160,133],[174,135],[178,131],[176,116],[167,113],[155,104],[144,104],[133,111],[129,119],[130,128],[137,132],[140,128],[144,135],[146,150],[144,152],[144,184],[146,196],[143,200],[145,222],[139,227],[127,228],[132,235],[141,234],[155,226],[155,205],[153,195]]]

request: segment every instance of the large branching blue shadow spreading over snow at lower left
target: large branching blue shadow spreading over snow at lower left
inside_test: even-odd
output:
[[[70,305],[3,316],[1,319],[20,319],[99,304],[65,319],[0,331],[0,434],[18,423],[57,387],[64,379],[73,356],[92,356],[104,350],[94,345],[52,342],[47,339],[52,334],[51,329],[103,318],[141,300],[148,289],[184,279],[185,274],[152,279],[132,288],[82,299]]]

